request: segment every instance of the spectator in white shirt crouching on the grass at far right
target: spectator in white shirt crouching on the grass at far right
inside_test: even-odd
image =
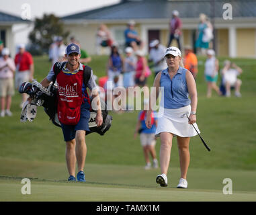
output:
[[[237,78],[241,75],[243,70],[237,66],[234,62],[229,60],[224,61],[224,68],[222,69],[223,84],[226,88],[226,97],[230,97],[230,88],[234,87],[234,95],[241,97],[240,88],[242,81]]]

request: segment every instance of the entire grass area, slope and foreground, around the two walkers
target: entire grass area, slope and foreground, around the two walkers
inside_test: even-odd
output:
[[[108,57],[92,59],[89,66],[93,73],[104,76]],[[225,58],[219,60],[222,67]],[[110,112],[110,130],[104,136],[86,136],[87,182],[67,183],[61,129],[48,120],[42,107],[38,107],[34,122],[19,122],[21,96],[15,91],[13,116],[0,118],[0,201],[255,201],[256,62],[243,58],[232,61],[243,69],[242,97],[234,97],[233,91],[229,98],[213,92],[212,98],[207,99],[205,58],[199,58],[197,123],[212,150],[208,152],[198,136],[191,138],[189,189],[175,188],[179,181],[176,139],[168,173],[170,186],[165,189],[155,183],[160,169],[144,171],[140,140],[133,138],[138,111]],[[50,70],[50,62],[46,56],[35,57],[34,62],[35,78],[41,81]],[[148,79],[148,86],[152,85],[153,75]],[[157,139],[158,156],[159,148]],[[24,177],[32,179],[30,196],[20,191]],[[222,193],[224,178],[232,179],[232,195]]]

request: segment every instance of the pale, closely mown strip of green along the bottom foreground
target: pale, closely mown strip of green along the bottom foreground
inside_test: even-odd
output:
[[[116,187],[115,185],[95,186],[72,183],[32,182],[32,193],[22,195],[19,181],[0,180],[0,189],[7,196],[1,194],[0,201],[90,201],[90,202],[171,202],[171,201],[255,201],[255,193],[234,193],[224,195],[220,191],[151,188]]]

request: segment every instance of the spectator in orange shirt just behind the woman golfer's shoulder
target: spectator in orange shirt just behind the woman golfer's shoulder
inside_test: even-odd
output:
[[[183,60],[184,68],[189,70],[194,79],[196,80],[196,75],[198,75],[198,58],[196,54],[194,54],[192,47],[187,45],[184,47],[185,57]]]

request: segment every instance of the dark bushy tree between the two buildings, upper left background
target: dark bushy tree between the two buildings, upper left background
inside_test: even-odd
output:
[[[69,36],[69,31],[64,30],[64,24],[59,17],[53,14],[44,14],[42,19],[36,18],[34,24],[34,30],[30,33],[29,38],[31,42],[31,48],[41,50],[42,52],[48,52],[50,44],[53,42],[54,36],[62,36],[64,42]],[[37,53],[38,54],[38,53]]]

